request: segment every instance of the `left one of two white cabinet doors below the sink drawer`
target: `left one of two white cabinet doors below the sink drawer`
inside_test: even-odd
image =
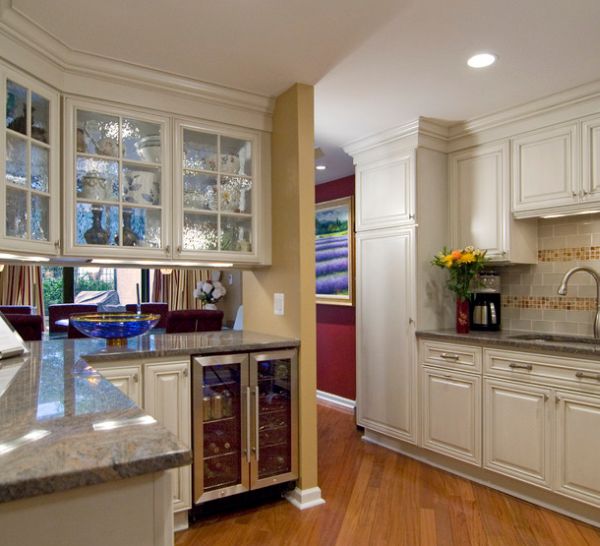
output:
[[[549,388],[484,379],[484,468],[551,487],[551,397]]]

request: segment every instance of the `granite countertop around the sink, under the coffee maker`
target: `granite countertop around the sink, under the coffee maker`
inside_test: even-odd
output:
[[[455,330],[420,330],[417,337],[436,339],[454,343],[503,347],[506,349],[524,349],[538,353],[560,353],[564,356],[585,356],[600,359],[600,340],[583,336],[543,334],[519,330],[501,330],[499,332],[471,331],[457,334]],[[546,337],[544,339],[544,337]],[[529,339],[528,339],[529,338]]]

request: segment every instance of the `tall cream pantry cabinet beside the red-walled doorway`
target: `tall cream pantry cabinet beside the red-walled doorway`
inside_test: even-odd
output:
[[[443,272],[430,265],[448,244],[448,200],[445,143],[429,125],[346,147],[356,165],[357,423],[372,441],[417,443],[415,331],[451,323]]]

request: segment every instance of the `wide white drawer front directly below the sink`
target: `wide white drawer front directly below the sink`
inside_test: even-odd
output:
[[[486,375],[600,393],[600,361],[497,349],[484,349],[483,361]]]

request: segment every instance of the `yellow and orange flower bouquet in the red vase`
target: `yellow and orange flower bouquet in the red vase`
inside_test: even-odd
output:
[[[446,286],[459,299],[466,300],[469,298],[469,287],[473,277],[489,261],[485,257],[485,253],[485,250],[480,250],[472,246],[466,246],[460,250],[448,250],[444,247],[435,255],[431,264],[448,270],[450,278]]]

